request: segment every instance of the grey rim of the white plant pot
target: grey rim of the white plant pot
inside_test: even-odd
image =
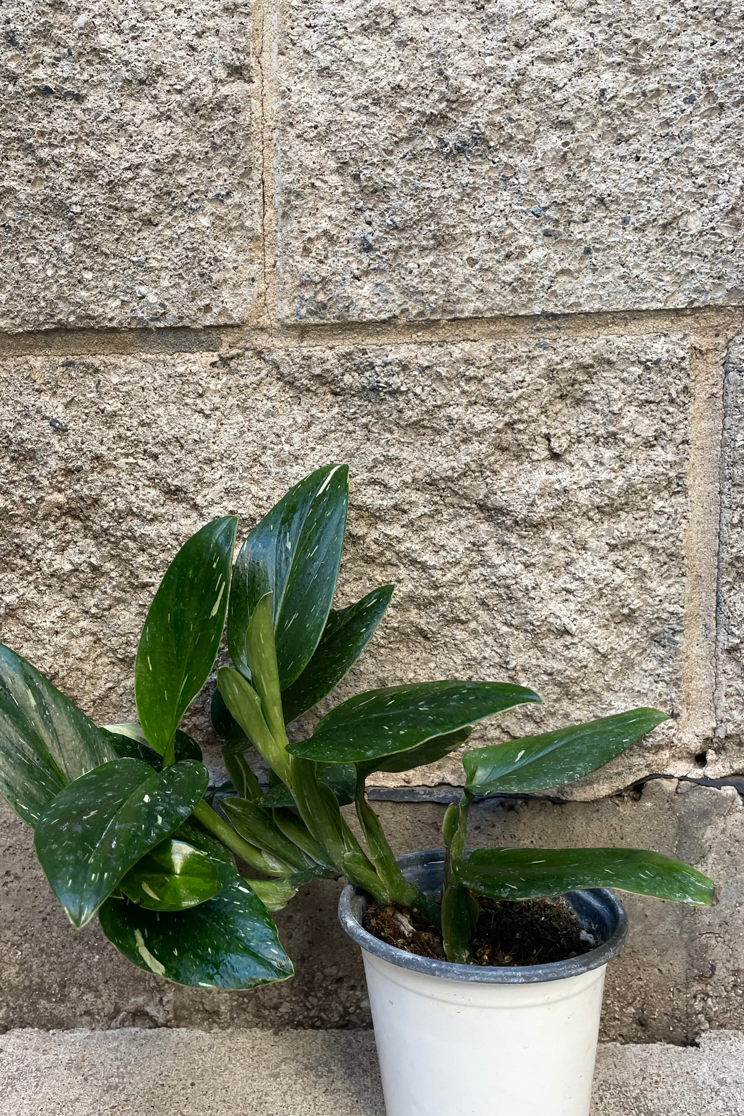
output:
[[[427,864],[443,865],[444,856],[445,850],[437,848],[425,853],[407,853],[396,859],[405,875],[406,868],[410,870]],[[406,953],[395,945],[380,942],[364,929],[354,914],[351,903],[361,896],[367,896],[369,903],[374,902],[365,891],[355,887],[354,884],[347,884],[338,901],[338,917],[349,937],[365,952],[392,965],[444,980],[468,981],[476,984],[537,984],[543,981],[566,980],[606,965],[618,955],[628,936],[628,916],[619,898],[607,887],[582,888],[567,892],[563,897],[571,906],[574,905],[572,897],[576,897],[577,904],[593,907],[600,917],[613,927],[601,945],[582,953],[581,956],[551,961],[544,965],[462,965],[453,961],[437,961],[434,958],[422,958],[417,953]]]

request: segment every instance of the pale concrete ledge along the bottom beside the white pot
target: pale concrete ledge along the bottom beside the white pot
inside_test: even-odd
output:
[[[385,1114],[370,1031],[8,1031],[0,1096],[2,1116]],[[592,1116],[744,1116],[744,1033],[603,1043]]]

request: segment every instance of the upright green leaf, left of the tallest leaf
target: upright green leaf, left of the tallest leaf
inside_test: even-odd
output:
[[[161,581],[139,637],[135,699],[147,742],[160,752],[202,689],[224,627],[238,520],[213,519],[181,548]]]

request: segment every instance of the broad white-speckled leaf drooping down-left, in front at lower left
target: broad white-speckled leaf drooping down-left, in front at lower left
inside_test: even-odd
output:
[[[52,892],[80,930],[122,876],[186,820],[206,790],[201,763],[153,771],[141,760],[104,763],[47,806],[35,848]]]

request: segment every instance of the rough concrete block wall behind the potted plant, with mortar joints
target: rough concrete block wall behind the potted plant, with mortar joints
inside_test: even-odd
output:
[[[741,2],[0,18],[2,642],[100,723],[132,718],[187,535],[247,530],[348,461],[339,604],[397,590],[339,696],[540,691],[477,743],[667,710],[563,805],[481,808],[474,839],[642,834],[709,869],[711,912],[630,901],[605,1035],[741,1027]],[[219,779],[206,704],[189,723]],[[378,777],[402,852],[438,844],[461,773]],[[292,982],[206,997],[76,934],[29,831],[0,829],[0,1026],[368,1024],[334,885],[280,916]]]

